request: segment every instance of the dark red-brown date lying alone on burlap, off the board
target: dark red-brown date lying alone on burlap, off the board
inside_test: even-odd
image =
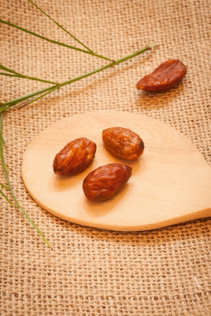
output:
[[[180,60],[170,59],[143,77],[136,88],[147,92],[166,91],[181,82],[186,73],[187,68]]]

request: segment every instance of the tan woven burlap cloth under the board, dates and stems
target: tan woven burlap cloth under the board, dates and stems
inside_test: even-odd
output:
[[[211,2],[36,4],[93,51],[111,59],[152,42],[160,46],[5,113],[5,159],[15,194],[52,249],[1,195],[1,314],[210,315],[210,218],[132,233],[82,227],[52,216],[33,201],[22,181],[21,164],[30,141],[50,124],[110,109],[170,124],[211,165]],[[81,47],[27,1],[2,0],[0,12],[1,19]],[[25,75],[62,82],[107,64],[3,23],[0,28],[1,64]],[[179,86],[159,94],[135,88],[141,77],[170,58],[180,59],[188,69]],[[0,84],[1,102],[49,86],[5,76]],[[3,171],[0,182],[6,184]]]

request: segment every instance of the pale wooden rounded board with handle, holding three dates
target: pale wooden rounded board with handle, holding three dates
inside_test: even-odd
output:
[[[136,161],[109,152],[102,130],[121,126],[145,144]],[[70,141],[86,137],[96,143],[94,161],[74,176],[54,174],[55,155]],[[110,163],[132,167],[132,176],[112,199],[86,199],[82,183],[89,172]],[[32,198],[51,214],[89,227],[141,231],[211,216],[211,168],[198,149],[171,126],[144,115],[95,111],[58,121],[28,146],[22,177]]]

